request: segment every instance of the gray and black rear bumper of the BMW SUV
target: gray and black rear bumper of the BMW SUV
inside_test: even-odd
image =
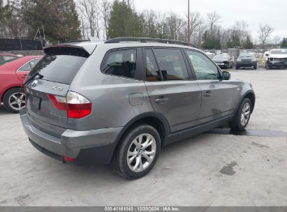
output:
[[[20,111],[24,131],[33,146],[52,158],[63,160],[64,156],[75,162],[108,164],[117,145],[122,128],[98,130],[65,130],[61,137],[49,135],[31,124],[27,109]]]

